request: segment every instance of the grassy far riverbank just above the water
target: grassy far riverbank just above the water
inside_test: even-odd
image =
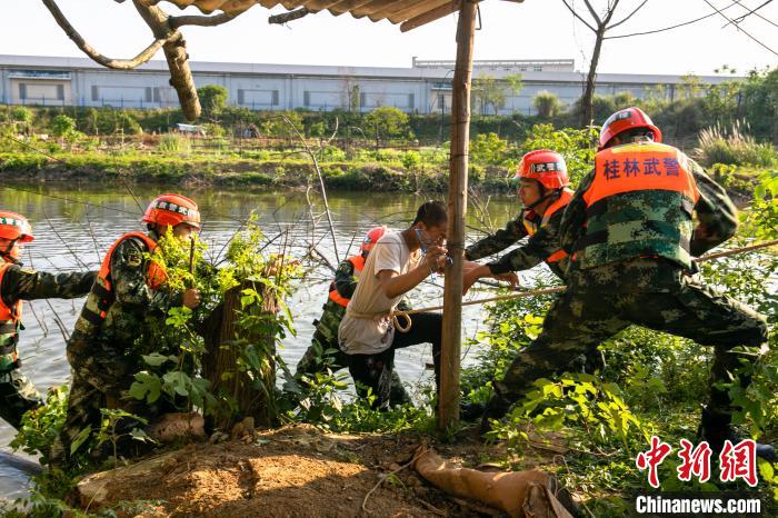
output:
[[[443,192],[448,170],[438,165],[403,167],[396,161],[320,163],[325,185],[356,191]],[[489,193],[507,192],[506,167],[471,167],[472,188]],[[128,181],[182,187],[223,187],[257,191],[318,185],[311,161],[299,158],[257,160],[241,157],[151,156],[103,153],[0,153],[0,181]]]

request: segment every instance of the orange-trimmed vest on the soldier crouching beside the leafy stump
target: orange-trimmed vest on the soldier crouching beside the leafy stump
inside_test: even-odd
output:
[[[157,248],[157,242],[141,232],[129,232],[120,237],[111,248],[106,253],[102,259],[102,265],[100,266],[100,271],[98,272],[92,289],[87,296],[87,301],[81,309],[81,315],[79,316],[79,321],[76,328],[86,332],[87,335],[94,336],[97,331],[102,326],[106,320],[106,315],[108,310],[113,305],[116,297],[113,293],[113,287],[111,285],[111,258],[117,247],[126,239],[139,239],[141,240],[149,251],[153,251]],[[149,288],[158,289],[167,281],[167,275],[164,271],[153,261],[149,263],[149,269],[147,271],[147,283]]]

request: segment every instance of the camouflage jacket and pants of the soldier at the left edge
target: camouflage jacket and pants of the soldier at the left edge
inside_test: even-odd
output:
[[[23,269],[21,266],[8,267],[2,277],[0,293],[8,307],[19,300],[48,298],[72,299],[89,292],[96,272],[47,273]],[[34,385],[21,371],[21,360],[17,359],[18,331],[0,335],[0,417],[13,428],[19,429],[21,417],[27,410],[43,405]]]

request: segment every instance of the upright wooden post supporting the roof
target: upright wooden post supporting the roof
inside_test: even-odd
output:
[[[448,188],[448,250],[453,258],[446,271],[443,330],[440,358],[438,426],[459,421],[459,361],[462,348],[462,260],[467,215],[468,141],[470,139],[470,81],[477,3],[462,0],[457,27],[457,64],[451,102],[451,150]]]

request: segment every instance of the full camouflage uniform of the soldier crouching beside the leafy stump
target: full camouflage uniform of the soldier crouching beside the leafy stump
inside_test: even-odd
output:
[[[123,239],[110,261],[113,302],[106,311],[104,320],[96,326],[88,318],[90,295],[76,322],[67,349],[73,371],[68,416],[52,449],[53,464],[67,461],[71,444],[81,430],[88,427],[99,429],[101,408],[122,408],[141,417],[172,410],[143,401],[122,400],[134,373],[144,368],[141,353],[156,347],[151,343],[151,326],[158,325],[168,309],[182,303],[181,293],[171,292],[164,286],[159,289],[149,287],[148,251],[140,239]],[[94,290],[93,287],[92,293]],[[158,405],[163,405],[161,399]]]

